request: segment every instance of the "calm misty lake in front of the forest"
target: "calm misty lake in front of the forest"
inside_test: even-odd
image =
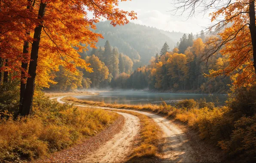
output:
[[[80,100],[104,101],[105,103],[119,104],[159,104],[164,100],[168,104],[174,104],[179,100],[194,99],[200,100],[205,98],[207,102],[219,101],[218,105],[223,105],[227,100],[227,95],[221,94],[171,94],[171,93],[152,93],[146,91],[110,91],[101,92],[95,96],[75,96]]]

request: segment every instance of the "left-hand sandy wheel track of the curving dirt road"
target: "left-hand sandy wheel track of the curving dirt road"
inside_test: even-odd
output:
[[[57,98],[59,103],[65,103],[61,101],[63,97],[53,97]],[[82,106],[82,105],[76,105]],[[84,107],[84,106],[82,106]],[[106,142],[98,150],[86,154],[87,157],[84,160],[79,160],[82,163],[113,163],[113,162],[123,162],[125,157],[129,155],[132,151],[133,140],[138,134],[140,129],[140,120],[134,115],[130,115],[123,112],[117,112],[118,114],[124,116],[125,124],[121,132],[116,134],[113,139]]]

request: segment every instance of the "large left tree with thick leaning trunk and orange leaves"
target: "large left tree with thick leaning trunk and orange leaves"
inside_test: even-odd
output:
[[[40,47],[42,47],[42,45],[39,46],[41,35],[44,35],[50,42],[43,47],[57,54],[59,58],[57,62],[62,63],[71,71],[75,71],[76,67],[80,66],[90,72],[91,68],[88,67],[88,63],[82,60],[77,53],[77,51],[81,52],[84,48],[80,45],[80,42],[85,45],[91,44],[91,47],[95,48],[95,42],[99,37],[102,37],[101,34],[91,32],[90,27],[95,29],[94,23],[98,22],[101,16],[110,20],[113,26],[127,24],[126,15],[131,16],[131,19],[136,18],[133,11],[126,12],[115,8],[116,0],[109,0],[108,3],[102,3],[101,0],[89,2],[80,0],[58,2],[55,0],[40,0],[36,4],[35,8],[38,10],[35,9],[34,11],[38,12],[36,20],[39,23],[34,23],[36,27],[30,53],[29,78],[27,78],[21,115],[31,113],[37,63]],[[84,6],[87,7],[88,11],[94,13],[94,18],[87,18]],[[78,48],[76,53],[71,50],[73,46]]]

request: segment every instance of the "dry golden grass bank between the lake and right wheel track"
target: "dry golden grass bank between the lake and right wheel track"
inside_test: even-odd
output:
[[[101,106],[101,107],[109,107],[116,109],[134,109],[134,110],[142,110],[147,112],[154,112],[155,114],[166,115],[167,117],[174,118],[177,121],[188,124],[189,127],[194,129],[198,129],[200,131],[200,136],[204,138],[211,138],[209,132],[213,132],[211,130],[212,126],[215,123],[215,119],[221,117],[225,112],[228,111],[227,107],[222,108],[213,108],[209,109],[207,107],[199,109],[196,103],[189,104],[189,100],[184,100],[180,102],[180,105],[183,107],[178,108],[174,106],[167,105],[163,102],[161,105],[123,105],[123,104],[107,104],[104,102],[94,102],[94,101],[85,101],[78,100],[74,97],[65,97],[63,99],[65,102],[71,102],[76,104],[84,104],[90,106]],[[184,107],[184,105],[189,106],[189,109]],[[192,108],[195,107],[195,108]],[[210,127],[209,127],[210,125]]]

